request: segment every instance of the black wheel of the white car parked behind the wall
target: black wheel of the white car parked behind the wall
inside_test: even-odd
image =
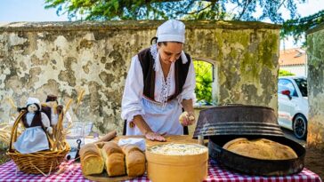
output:
[[[296,115],[293,123],[293,130],[296,138],[305,139],[307,136],[307,120],[304,115]]]

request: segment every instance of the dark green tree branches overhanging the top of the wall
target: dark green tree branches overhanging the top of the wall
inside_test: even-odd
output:
[[[45,0],[45,8],[76,20],[271,20],[283,24],[281,36],[303,36],[324,22],[324,12],[301,18],[296,4],[306,0]],[[259,9],[261,13],[255,11]],[[279,10],[287,9],[290,20]]]

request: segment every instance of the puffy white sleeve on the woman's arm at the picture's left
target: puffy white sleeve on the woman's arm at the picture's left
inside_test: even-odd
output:
[[[142,66],[136,55],[128,71],[122,99],[121,117],[127,122],[133,121],[134,115],[145,114],[142,107],[143,88]]]

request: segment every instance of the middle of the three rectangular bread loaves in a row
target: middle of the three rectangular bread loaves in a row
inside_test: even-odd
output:
[[[101,155],[109,177],[125,175],[125,161],[122,149],[112,141],[105,143],[101,148]]]

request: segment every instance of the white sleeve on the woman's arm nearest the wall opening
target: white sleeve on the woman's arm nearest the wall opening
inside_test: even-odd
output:
[[[191,59],[187,79],[186,82],[183,84],[182,92],[178,96],[178,102],[182,103],[182,99],[192,99],[192,102],[194,103],[196,101],[195,88],[196,73]]]

